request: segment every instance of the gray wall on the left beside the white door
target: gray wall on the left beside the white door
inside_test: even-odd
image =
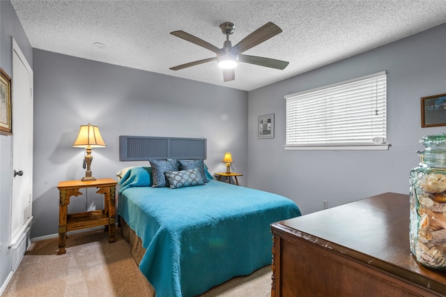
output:
[[[26,61],[33,65],[33,54],[28,38],[10,1],[0,1],[0,67],[14,79],[13,40],[22,50]],[[10,199],[13,180],[13,137],[0,135],[0,287],[11,271],[11,254],[8,252],[10,233]]]

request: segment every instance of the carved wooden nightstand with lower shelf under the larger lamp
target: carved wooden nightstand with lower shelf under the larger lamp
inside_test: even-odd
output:
[[[109,243],[114,243],[115,234],[115,202],[116,183],[112,178],[100,178],[95,181],[61,181],[59,189],[59,252],[65,254],[67,232],[91,227],[106,226],[109,231]],[[99,194],[104,195],[104,209],[87,211],[85,213],[68,214],[68,204],[71,196],[82,195],[79,189],[99,188]]]

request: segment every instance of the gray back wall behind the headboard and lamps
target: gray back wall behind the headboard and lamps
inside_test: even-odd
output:
[[[63,54],[33,50],[34,181],[31,238],[56,234],[59,181],[80,179],[84,149],[73,148],[79,125],[98,125],[105,148],[93,148],[96,178],[115,178],[130,165],[119,162],[119,135],[207,138],[210,172],[247,174],[247,92],[134,70]],[[247,185],[247,178],[240,178]],[[85,191],[81,190],[81,192]],[[69,212],[102,208],[89,189],[72,197]]]

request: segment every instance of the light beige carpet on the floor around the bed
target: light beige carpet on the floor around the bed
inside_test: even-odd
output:
[[[2,296],[155,296],[119,231],[115,243],[108,243],[107,235],[102,230],[72,234],[61,255],[57,238],[32,243]],[[200,296],[270,296],[270,286],[266,266]]]

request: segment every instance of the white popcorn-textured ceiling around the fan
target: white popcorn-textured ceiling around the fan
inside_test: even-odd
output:
[[[391,43],[446,22],[446,1],[22,1],[11,0],[31,46],[154,73],[250,91]],[[239,63],[223,82],[215,56],[169,34],[183,30],[223,47],[267,22],[283,32],[244,52],[289,61],[284,70]],[[94,43],[103,43],[99,48]]]

